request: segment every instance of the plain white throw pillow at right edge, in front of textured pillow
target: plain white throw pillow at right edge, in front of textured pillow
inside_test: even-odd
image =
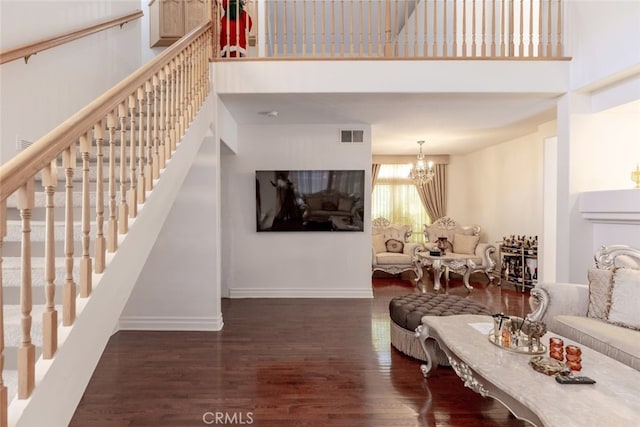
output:
[[[640,330],[640,270],[617,268],[613,273],[613,290],[609,322]]]

